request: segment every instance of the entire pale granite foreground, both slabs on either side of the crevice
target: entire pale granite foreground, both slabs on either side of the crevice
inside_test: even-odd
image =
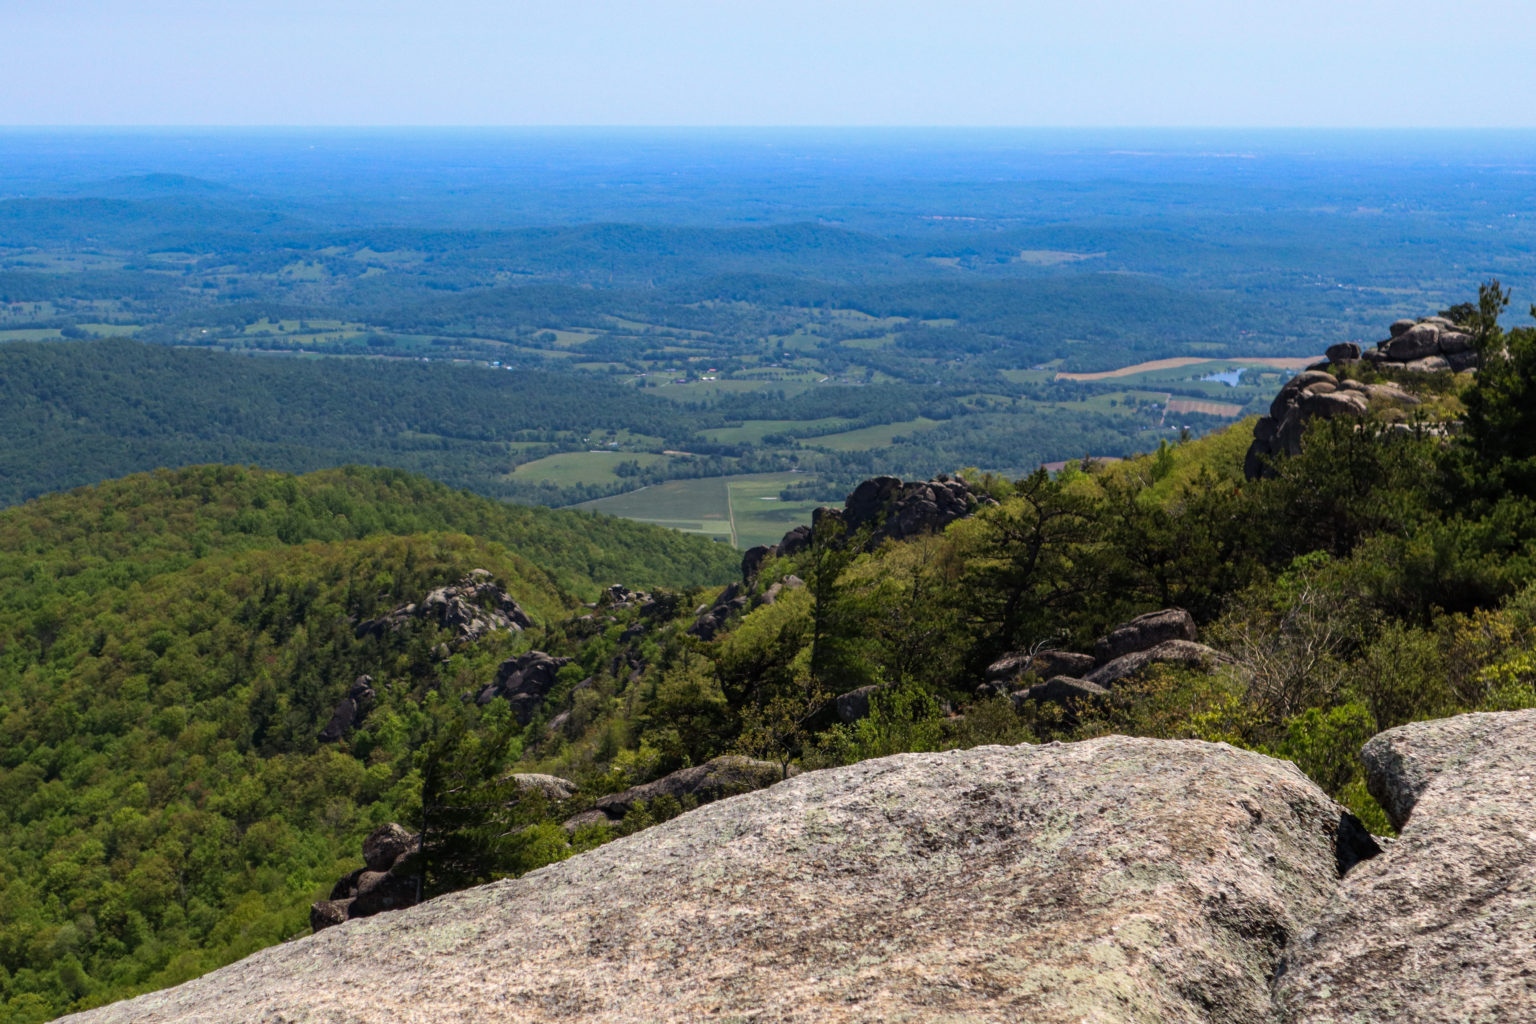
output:
[[[66,1019],[1531,1021],[1533,737],[1372,740],[1385,852],[1226,745],[902,754]]]

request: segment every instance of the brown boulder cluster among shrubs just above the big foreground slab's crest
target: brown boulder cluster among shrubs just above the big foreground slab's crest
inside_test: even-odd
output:
[[[1071,705],[1106,697],[1150,665],[1213,669],[1229,660],[1195,637],[1195,620],[1183,608],[1149,611],[1100,637],[1092,654],[1044,649],[1008,654],[988,666],[985,686],[1011,692],[1020,705],[1028,700]],[[1014,689],[1026,676],[1043,682]]]

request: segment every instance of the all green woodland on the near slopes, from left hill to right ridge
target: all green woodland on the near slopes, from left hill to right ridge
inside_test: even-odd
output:
[[[722,545],[398,471],[203,467],[0,513],[3,1019],[303,933],[361,837],[418,821],[424,792],[439,811],[479,809],[447,815],[461,827],[442,837],[453,870],[429,872],[438,890],[682,812],[657,800],[611,827],[559,826],[727,752],[814,769],[1103,732],[1224,740],[1295,760],[1384,832],[1364,738],[1536,706],[1536,332],[1501,330],[1502,302],[1490,287],[1458,310],[1478,376],[1396,373],[1419,405],[1364,428],[1319,421],[1269,479],[1243,477],[1240,424],[1121,464],[975,477],[997,505],[942,534],[872,543],[825,520],[754,586],[803,585],[710,640],[688,626],[714,599],[705,585],[736,574]],[[473,568],[535,626],[475,643],[427,620],[356,629]],[[613,582],[650,597],[581,605]],[[1164,606],[1189,609],[1230,663],[1155,668],[1066,708],[982,685],[1000,654],[1087,649]],[[571,659],[531,720],[467,700],[528,649]],[[321,743],[359,674],[376,706]],[[871,714],[837,722],[831,699],[866,685],[880,688]],[[508,769],[562,775],[578,795],[505,809]]]

